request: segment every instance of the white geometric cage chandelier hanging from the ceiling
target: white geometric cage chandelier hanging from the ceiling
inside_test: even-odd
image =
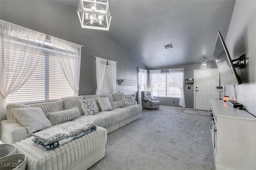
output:
[[[108,0],[80,0],[77,14],[82,28],[109,30],[111,14]]]

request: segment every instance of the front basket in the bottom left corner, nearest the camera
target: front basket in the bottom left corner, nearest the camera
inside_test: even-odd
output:
[[[12,154],[0,158],[1,170],[25,170],[26,169],[26,155]]]

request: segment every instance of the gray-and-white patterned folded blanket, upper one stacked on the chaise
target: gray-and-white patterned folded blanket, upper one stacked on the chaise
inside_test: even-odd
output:
[[[40,142],[46,145],[84,132],[94,127],[95,125],[95,122],[92,121],[76,121],[68,125],[48,128],[33,133],[33,136],[35,136]]]

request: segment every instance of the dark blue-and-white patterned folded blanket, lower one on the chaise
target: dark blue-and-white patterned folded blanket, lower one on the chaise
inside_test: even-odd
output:
[[[32,141],[33,141],[35,144],[37,144],[38,146],[44,148],[44,150],[52,150],[52,149],[54,149],[54,148],[56,148],[56,147],[58,147],[58,146],[60,146],[60,145],[62,145],[62,144],[65,144],[65,143],[67,143],[67,142],[69,142],[69,141],[71,141],[71,140],[74,140],[74,139],[76,139],[76,138],[79,138],[80,136],[83,136],[83,135],[85,135],[85,134],[88,134],[88,133],[90,133],[90,132],[93,132],[94,130],[96,130],[96,126],[90,128],[90,129],[88,129],[88,130],[86,130],[86,131],[84,131],[84,132],[78,133],[78,134],[76,134],[76,135],[74,135],[74,136],[70,136],[70,137],[68,137],[68,138],[59,140],[59,141],[57,141],[57,142],[53,142],[53,143],[51,143],[51,144],[46,144],[46,145],[45,145],[43,142],[39,141],[37,138],[33,138]]]

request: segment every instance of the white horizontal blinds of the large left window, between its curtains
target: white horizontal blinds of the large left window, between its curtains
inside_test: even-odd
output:
[[[13,43],[18,42],[6,44],[12,45]],[[26,83],[18,91],[16,91],[16,93],[7,97],[6,103],[34,103],[51,101],[60,99],[61,97],[72,96],[74,94],[74,91],[71,89],[64,76],[55,52],[51,47],[52,44],[50,42],[42,43],[44,43],[44,48],[42,55],[38,56],[40,59],[35,71],[32,73],[32,76],[28,79],[28,81],[26,81]],[[6,56],[10,56],[10,62],[22,62],[16,61],[15,54],[17,51],[14,52],[5,50],[4,52]],[[72,51],[66,51],[66,53],[72,53]],[[27,55],[26,57],[28,57],[29,60],[30,55]],[[72,61],[71,59],[70,62],[75,61]]]

